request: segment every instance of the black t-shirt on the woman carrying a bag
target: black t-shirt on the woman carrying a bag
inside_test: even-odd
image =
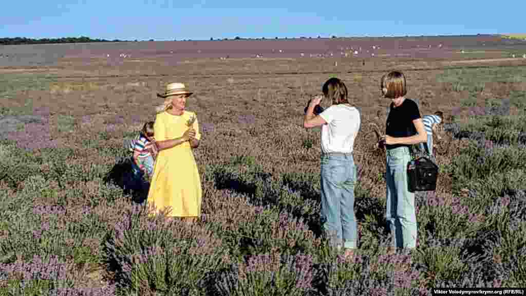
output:
[[[389,116],[386,122],[386,135],[392,137],[409,137],[417,134],[417,129],[414,127],[413,120],[419,119],[420,111],[418,105],[413,100],[406,98],[398,107],[394,107],[391,103]],[[409,146],[406,144],[386,145],[388,149]]]

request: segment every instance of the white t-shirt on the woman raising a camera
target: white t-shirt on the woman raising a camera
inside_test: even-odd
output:
[[[323,153],[351,153],[360,129],[360,112],[347,104],[331,105],[319,114],[327,124],[321,126]]]

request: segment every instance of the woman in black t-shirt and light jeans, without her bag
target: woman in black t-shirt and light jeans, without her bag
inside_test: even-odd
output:
[[[382,77],[382,94],[391,99],[386,122],[387,209],[386,220],[397,248],[416,248],[417,218],[414,193],[407,184],[407,164],[411,161],[410,145],[427,141],[418,105],[406,98],[406,77],[391,72]]]

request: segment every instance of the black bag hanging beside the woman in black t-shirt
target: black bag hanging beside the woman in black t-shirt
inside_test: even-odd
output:
[[[409,192],[434,191],[437,189],[438,165],[429,157],[422,156],[407,164]]]

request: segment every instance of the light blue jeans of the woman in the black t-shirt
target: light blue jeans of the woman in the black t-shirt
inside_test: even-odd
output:
[[[388,149],[387,152],[387,209],[386,220],[397,248],[416,248],[417,216],[414,193],[409,192],[407,164],[411,161],[408,147]]]

